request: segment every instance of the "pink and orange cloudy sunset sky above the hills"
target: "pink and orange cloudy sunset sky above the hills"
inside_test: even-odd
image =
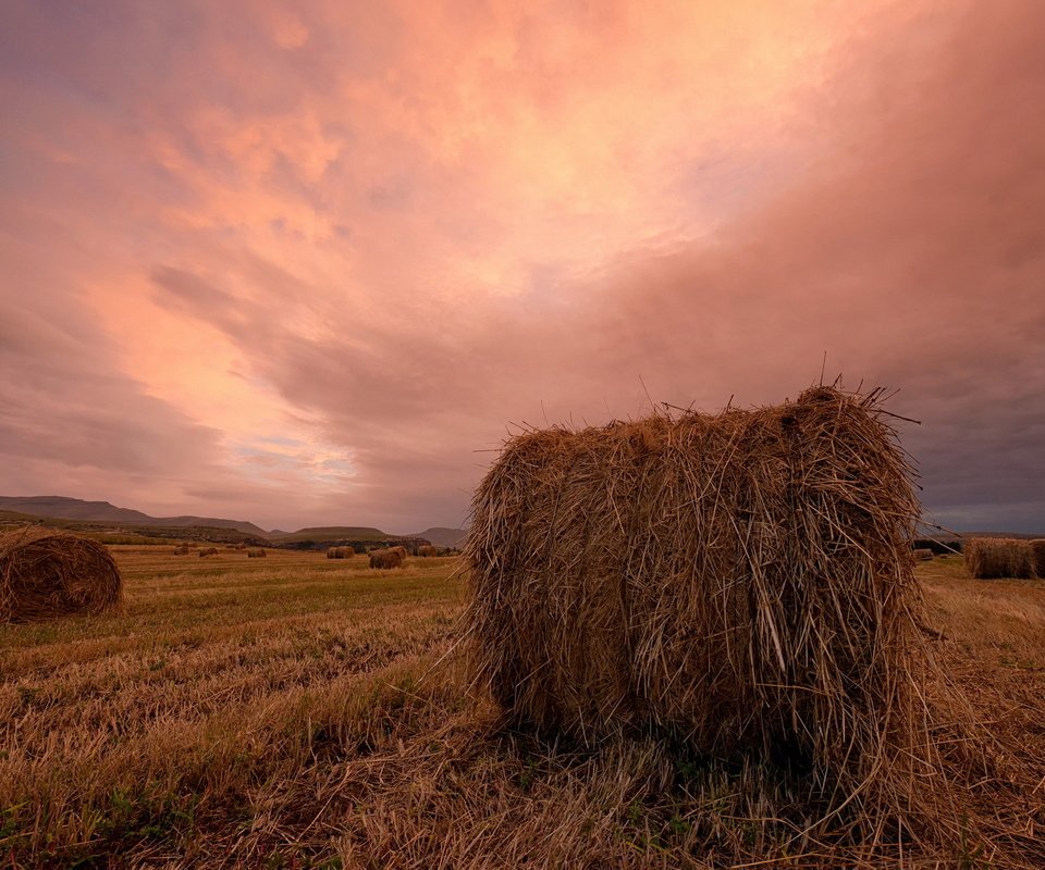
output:
[[[1040,0],[0,3],[0,494],[458,525],[513,424],[898,389],[1045,531]]]

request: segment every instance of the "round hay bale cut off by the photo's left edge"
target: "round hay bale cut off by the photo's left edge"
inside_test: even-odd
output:
[[[122,596],[103,544],[32,527],[0,536],[0,622],[103,613]]]

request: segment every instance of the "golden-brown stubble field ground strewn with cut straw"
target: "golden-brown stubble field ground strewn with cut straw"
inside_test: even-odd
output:
[[[700,768],[653,739],[586,751],[497,729],[462,688],[450,559],[378,572],[315,552],[113,551],[122,613],[0,625],[0,867],[1045,860],[1040,581],[919,566],[938,656],[1015,773],[966,785],[992,825],[899,855],[797,836],[776,818],[786,795],[752,791],[748,768]]]

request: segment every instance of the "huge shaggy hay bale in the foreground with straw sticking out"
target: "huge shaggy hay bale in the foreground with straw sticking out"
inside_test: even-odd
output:
[[[913,812],[920,507],[880,395],[511,439],[464,547],[474,685],[585,742],[664,729]]]

